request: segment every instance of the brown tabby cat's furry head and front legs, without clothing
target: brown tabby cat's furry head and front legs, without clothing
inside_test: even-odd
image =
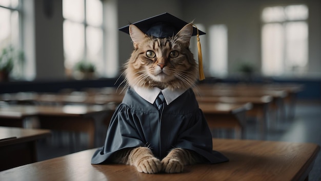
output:
[[[193,25],[187,24],[173,37],[155,38],[130,25],[134,51],[125,65],[127,86],[156,86],[160,89],[187,89],[194,86],[198,68],[189,50],[192,32]],[[163,160],[159,160],[150,148],[138,147],[116,152],[112,162],[133,165],[139,172],[177,173],[183,171],[184,165],[201,161],[199,155],[191,150],[174,148]]]

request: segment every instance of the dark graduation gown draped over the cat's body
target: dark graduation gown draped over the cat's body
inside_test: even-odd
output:
[[[162,160],[173,148],[184,148],[204,157],[204,163],[228,161],[212,150],[212,136],[192,89],[165,104],[163,113],[129,88],[111,119],[105,145],[92,156],[92,164],[110,163],[124,148],[148,146]]]

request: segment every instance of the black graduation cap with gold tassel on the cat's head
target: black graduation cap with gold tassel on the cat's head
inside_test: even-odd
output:
[[[132,25],[135,25],[142,32],[149,36],[153,36],[156,38],[166,38],[176,35],[179,30],[187,24],[188,22],[179,19],[169,13],[163,13],[134,22]],[[129,25],[119,28],[118,30],[129,34]],[[203,72],[202,50],[200,48],[199,42],[199,35],[204,34],[206,33],[198,30],[197,27],[193,25],[192,36],[197,36],[199,80],[205,79]]]

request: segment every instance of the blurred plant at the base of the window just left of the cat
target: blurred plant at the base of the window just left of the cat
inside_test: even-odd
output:
[[[81,60],[75,64],[74,70],[76,71],[75,78],[77,78],[77,79],[92,79],[92,78],[94,78],[96,66],[94,65],[94,63],[92,63],[90,61]]]

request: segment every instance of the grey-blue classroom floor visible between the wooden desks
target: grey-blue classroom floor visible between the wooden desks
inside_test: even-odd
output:
[[[255,120],[249,120],[247,122],[245,139],[262,139],[262,135],[257,131],[257,127],[258,125]],[[83,134],[75,135],[67,132],[54,132],[52,138],[39,142],[39,161],[87,149],[84,144],[70,144],[74,143],[72,140],[76,140],[70,138],[77,137],[82,142],[87,141],[86,135]],[[225,135],[220,134],[218,137],[224,138]],[[308,142],[321,145],[321,101],[297,101],[294,118],[282,119],[277,121],[273,126],[270,125],[264,137],[266,140],[271,141]],[[103,140],[101,140],[101,144],[103,144]],[[309,180],[321,181],[321,152],[319,152],[314,167],[310,172]]]

